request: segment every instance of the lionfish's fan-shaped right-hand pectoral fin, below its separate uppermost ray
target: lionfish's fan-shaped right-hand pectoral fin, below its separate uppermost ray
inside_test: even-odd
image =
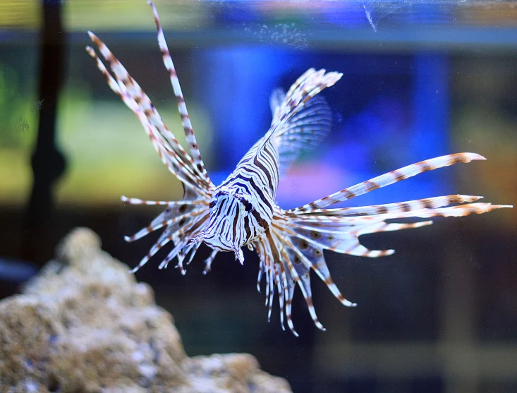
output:
[[[254,243],[260,257],[257,287],[260,289],[260,280],[265,277],[269,315],[274,291],[278,291],[281,322],[283,324],[285,313],[288,327],[293,334],[298,335],[291,315],[293,294],[298,285],[315,326],[324,330],[312,302],[310,270],[314,270],[343,306],[356,306],[334,284],[324,259],[324,250],[368,258],[387,256],[393,254],[394,250],[370,250],[360,243],[360,236],[427,226],[432,224],[429,220],[432,217],[462,217],[511,207],[482,202],[450,206],[452,203],[473,202],[479,198],[472,195],[446,195],[387,205],[318,210],[317,214],[310,211],[277,210],[266,234]],[[410,217],[422,220],[393,222]]]

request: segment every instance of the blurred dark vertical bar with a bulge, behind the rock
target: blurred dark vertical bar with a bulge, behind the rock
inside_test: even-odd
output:
[[[51,256],[57,236],[52,226],[54,183],[65,169],[65,159],[56,147],[56,111],[63,83],[65,37],[61,24],[61,0],[42,0],[43,26],[39,74],[37,144],[32,155],[34,181],[25,217],[23,258],[43,262]],[[44,101],[42,101],[44,100]]]

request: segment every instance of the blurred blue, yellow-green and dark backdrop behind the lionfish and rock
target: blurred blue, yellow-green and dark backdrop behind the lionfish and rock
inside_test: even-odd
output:
[[[517,4],[513,1],[157,1],[205,164],[214,183],[271,121],[269,94],[307,68],[340,71],[322,94],[327,140],[281,181],[296,207],[422,159],[477,152],[458,164],[369,193],[348,205],[452,193],[517,200]],[[138,119],[87,56],[106,42],[183,141],[181,121],[146,1],[0,0],[0,296],[52,258],[59,239],[89,226],[133,266],[158,234],[159,207],[121,195],[181,198]],[[299,292],[300,338],[267,323],[258,260],[219,254],[202,275],[203,246],[182,277],[136,274],[174,315],[190,356],[249,352],[294,392],[516,392],[517,214],[436,219],[413,231],[364,236],[386,258],[327,253],[343,308],[313,280],[313,325]],[[164,251],[166,255],[168,250]]]

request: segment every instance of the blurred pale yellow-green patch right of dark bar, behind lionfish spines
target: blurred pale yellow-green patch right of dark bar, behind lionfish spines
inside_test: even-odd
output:
[[[124,104],[92,102],[70,94],[70,90],[64,96],[59,108],[59,129],[63,131],[59,145],[71,162],[59,187],[58,202],[116,203],[121,195],[151,200],[181,198],[179,181],[169,174],[138,119]],[[160,102],[158,109],[164,120],[171,119],[166,123],[185,145],[175,105],[172,100]],[[207,118],[195,104],[189,109],[195,114],[200,143],[204,143]]]

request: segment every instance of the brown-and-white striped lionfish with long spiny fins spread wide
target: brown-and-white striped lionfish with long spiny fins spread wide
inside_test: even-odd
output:
[[[149,135],[154,149],[166,167],[183,184],[183,199],[178,201],[152,201],[126,198],[130,205],[164,205],[160,213],[145,228],[126,241],[135,241],[157,229],[165,227],[157,243],[131,272],[136,272],[167,243],[174,248],[162,260],[159,268],[167,267],[177,258],[176,267],[185,274],[184,261],[188,265],[194,258],[200,244],[212,248],[205,260],[204,274],[209,272],[212,261],[219,251],[235,253],[236,260],[243,264],[241,248],[247,246],[256,250],[260,258],[257,289],[260,291],[262,277],[266,279],[266,305],[271,317],[273,296],[278,293],[281,327],[284,327],[284,313],[291,332],[298,336],[291,318],[293,293],[298,284],[307,303],[316,327],[325,330],[317,318],[312,304],[310,270],[314,270],[327,284],[334,296],[347,307],[356,304],[343,297],[332,281],[324,250],[336,253],[377,258],[391,255],[394,250],[369,250],[360,244],[359,236],[375,232],[399,231],[430,225],[430,220],[420,222],[387,222],[393,219],[416,217],[461,217],[480,214],[509,205],[475,202],[482,197],[473,195],[445,195],[385,205],[327,208],[336,202],[355,198],[384,186],[396,183],[433,169],[458,162],[470,162],[484,157],[475,153],[457,153],[396,169],[387,174],[363,181],[355,186],[328,195],[295,209],[283,210],[275,203],[279,178],[303,150],[310,150],[329,132],[332,113],[324,98],[317,96],[326,87],[334,85],[341,73],[316,71],[310,68],[291,86],[288,92],[275,90],[270,99],[273,119],[269,131],[250,148],[238,162],[235,171],[219,186],[210,180],[190,123],[185,99],[181,92],[176,69],[165,42],[159,23],[157,9],[149,2],[158,30],[158,43],[162,58],[171,79],[183,131],[188,143],[188,152],[166,127],[157,109],[140,85],[129,75],[126,68],[109,51],[108,47],[92,32],[92,42],[109,63],[107,71],[92,47],[86,47],[97,67],[106,77],[111,90],[135,112]],[[284,307],[285,306],[285,307]]]

